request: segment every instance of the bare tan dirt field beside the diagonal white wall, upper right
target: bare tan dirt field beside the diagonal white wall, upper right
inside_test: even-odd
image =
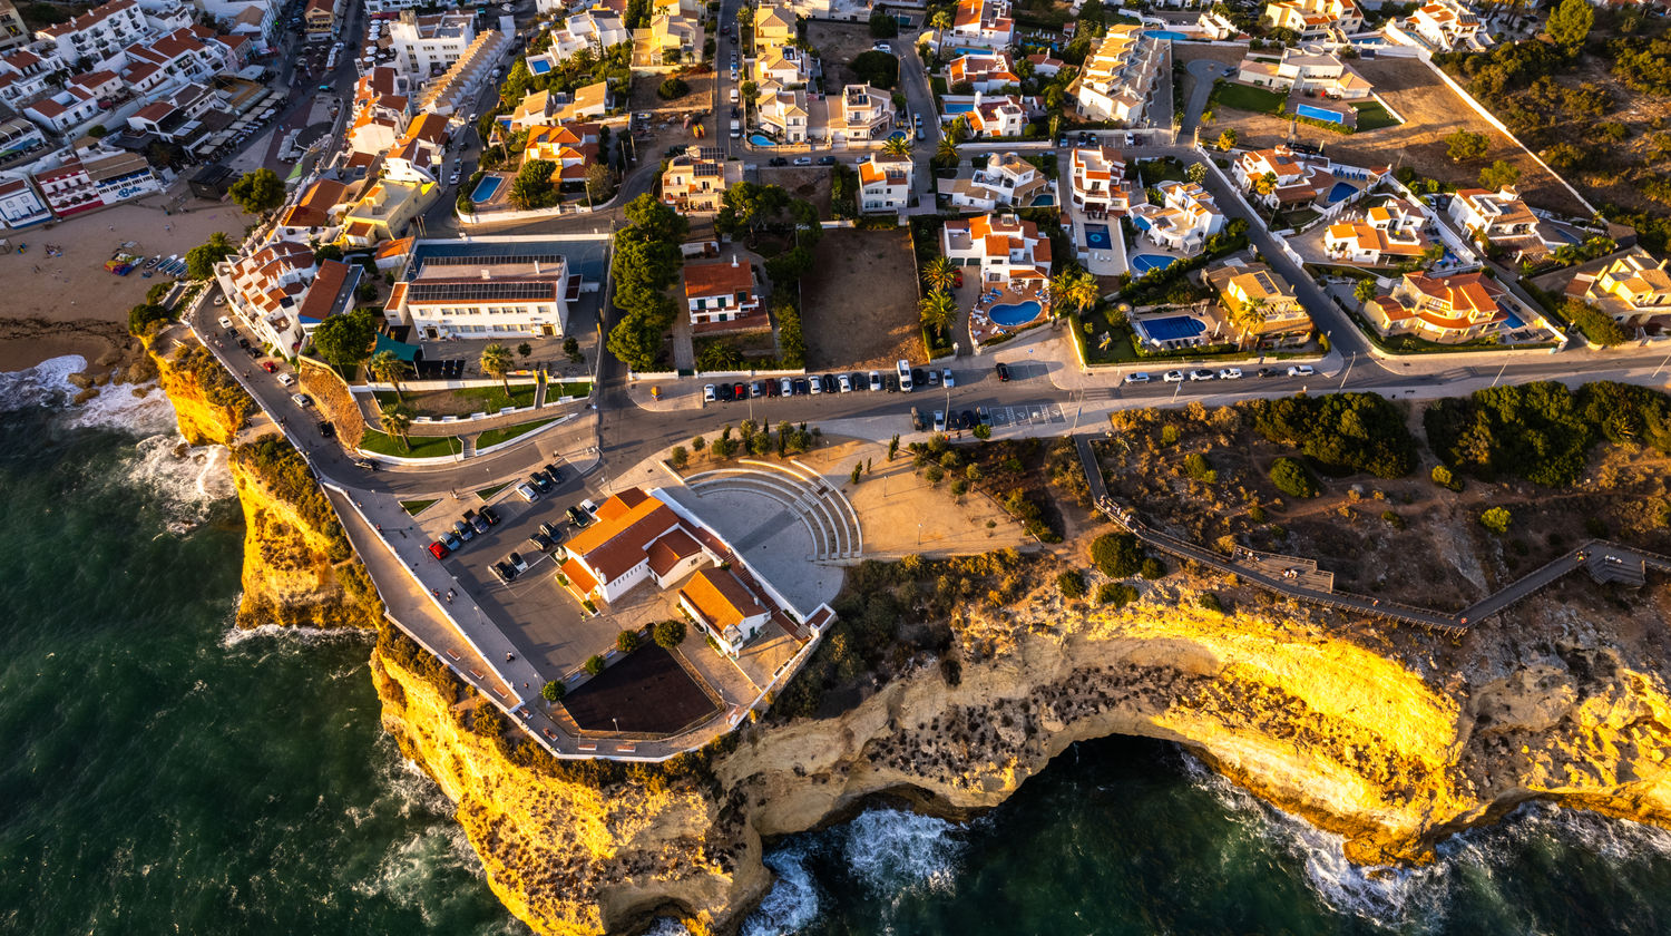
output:
[[[1464,104],[1427,65],[1414,58],[1360,58],[1352,67],[1375,85],[1375,94],[1404,117],[1404,124],[1352,135],[1298,125],[1300,139],[1322,144],[1330,159],[1352,165],[1409,165],[1455,186],[1479,186],[1479,170],[1502,159],[1521,170],[1519,189],[1529,204],[1589,216],[1549,170]],[[1237,145],[1242,147],[1273,145],[1288,137],[1287,120],[1228,107],[1218,109],[1215,120],[1203,127],[1203,135],[1216,135],[1225,127],[1237,129]],[[1457,164],[1445,155],[1445,137],[1459,129],[1491,137],[1484,157]]]

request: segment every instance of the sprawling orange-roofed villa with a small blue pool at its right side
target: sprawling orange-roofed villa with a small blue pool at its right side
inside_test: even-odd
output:
[[[1521,328],[1507,291],[1484,272],[1430,277],[1407,272],[1389,296],[1364,306],[1382,336],[1417,334],[1455,344]]]

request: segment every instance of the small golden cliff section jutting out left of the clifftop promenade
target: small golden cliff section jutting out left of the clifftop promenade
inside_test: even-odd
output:
[[[244,506],[239,627],[376,627],[383,602],[296,450],[266,436],[229,463]]]

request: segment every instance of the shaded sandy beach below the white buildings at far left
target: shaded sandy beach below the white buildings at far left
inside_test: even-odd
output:
[[[184,189],[184,184],[179,184]],[[0,252],[0,371],[20,371],[60,354],[94,361],[114,348],[109,324],[125,336],[127,311],[145,301],[145,291],[162,276],[105,272],[104,262],[119,249],[142,256],[185,256],[216,231],[232,242],[244,236],[251,217],[237,206],[185,199],[185,212],[164,214],[169,194],[82,214],[69,221],[8,232],[10,251]],[[17,252],[18,244],[28,251]],[[63,249],[48,257],[45,244]],[[124,246],[132,244],[132,246]]]

